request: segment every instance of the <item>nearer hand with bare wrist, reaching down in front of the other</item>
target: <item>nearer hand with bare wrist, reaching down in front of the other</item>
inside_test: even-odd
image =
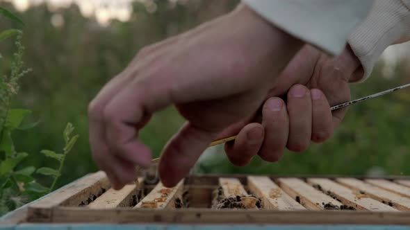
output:
[[[138,131],[151,114],[176,105],[187,123],[158,167],[163,184],[176,185],[222,130],[256,114],[302,46],[242,6],[143,49],[90,103],[92,156],[113,188],[132,182],[135,165],[151,161]]]

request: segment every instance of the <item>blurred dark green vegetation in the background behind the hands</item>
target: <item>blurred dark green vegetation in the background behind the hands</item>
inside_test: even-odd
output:
[[[11,3],[1,6],[17,12]],[[18,151],[28,152],[26,164],[50,165],[42,149],[60,150],[60,137],[72,122],[80,139],[67,156],[58,186],[97,170],[88,143],[87,106],[104,84],[122,71],[140,48],[181,33],[231,10],[238,1],[190,0],[134,2],[129,21],[110,21],[101,26],[94,17],[83,17],[78,6],[51,9],[46,4],[17,12],[24,19],[24,60],[33,72],[22,79],[21,91],[13,107],[33,110],[31,119],[41,123],[33,130],[14,133]],[[151,5],[152,6],[152,5]],[[148,10],[147,10],[148,9]],[[13,24],[0,19],[0,30]],[[9,71],[13,40],[0,44],[4,56],[0,74]],[[405,63],[405,60],[402,61]],[[410,82],[405,64],[390,73],[380,62],[370,80],[352,85],[352,98],[359,98]],[[181,67],[183,68],[183,67]],[[394,77],[392,77],[394,76]],[[255,158],[249,166],[234,167],[215,148],[204,157],[195,172],[270,173],[278,175],[385,173],[409,175],[410,167],[410,89],[354,105],[343,125],[325,144],[314,144],[302,154],[286,152],[278,163]],[[156,114],[140,138],[158,155],[183,119],[169,108]]]

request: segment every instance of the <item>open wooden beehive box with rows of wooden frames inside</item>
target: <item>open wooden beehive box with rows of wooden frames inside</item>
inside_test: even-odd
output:
[[[28,204],[3,222],[410,224],[407,177],[195,175],[174,188],[138,182],[140,189],[129,184],[115,191],[104,172],[96,172]],[[223,199],[227,197],[237,202],[252,197],[255,202],[233,206]]]

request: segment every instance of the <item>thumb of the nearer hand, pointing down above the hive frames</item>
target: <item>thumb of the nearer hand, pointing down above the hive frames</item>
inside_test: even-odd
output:
[[[202,130],[190,123],[183,125],[161,155],[158,171],[163,185],[173,187],[188,175],[190,168],[217,135],[218,132]]]

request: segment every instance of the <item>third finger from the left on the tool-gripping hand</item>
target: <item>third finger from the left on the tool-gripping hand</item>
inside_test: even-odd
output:
[[[293,152],[306,150],[311,141],[312,102],[309,89],[295,85],[288,93],[289,137],[288,149]]]

